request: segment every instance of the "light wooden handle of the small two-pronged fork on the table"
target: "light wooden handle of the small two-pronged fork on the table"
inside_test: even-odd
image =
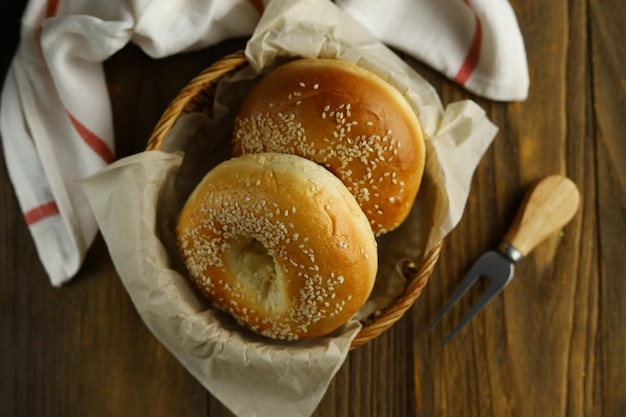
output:
[[[546,177],[528,190],[503,240],[526,256],[574,217],[579,202],[572,180],[562,175]]]

